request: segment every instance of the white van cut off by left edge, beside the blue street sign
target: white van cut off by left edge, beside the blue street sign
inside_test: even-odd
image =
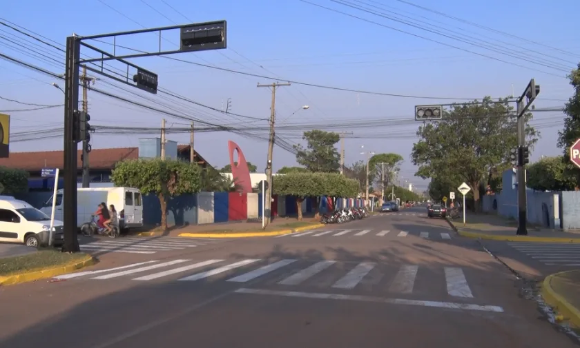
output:
[[[25,201],[0,199],[0,242],[24,243],[38,247],[48,243],[50,217]],[[55,220],[52,227],[53,245],[64,240],[62,222]]]

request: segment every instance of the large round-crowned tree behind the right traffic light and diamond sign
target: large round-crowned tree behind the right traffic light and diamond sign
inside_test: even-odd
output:
[[[470,185],[474,208],[479,208],[480,183],[489,183],[490,173],[510,162],[510,149],[516,147],[516,117],[507,99],[503,103],[483,102],[454,104],[443,119],[419,126],[412,151],[412,161],[419,166],[416,176],[456,177]],[[526,121],[532,118],[527,113]],[[533,147],[539,133],[534,127],[525,130],[526,145]],[[485,182],[487,181],[487,182]]]

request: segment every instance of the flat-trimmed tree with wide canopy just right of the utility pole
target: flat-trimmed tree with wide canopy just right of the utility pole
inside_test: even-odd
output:
[[[272,181],[273,194],[296,197],[298,221],[302,220],[302,201],[307,197],[354,197],[358,194],[356,181],[334,173],[290,173],[273,176]]]

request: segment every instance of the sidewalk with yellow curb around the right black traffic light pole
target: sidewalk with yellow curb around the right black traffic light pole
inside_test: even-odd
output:
[[[580,243],[580,234],[528,225],[528,236],[517,236],[517,221],[492,214],[467,212],[463,218],[448,219],[460,236],[490,240]]]

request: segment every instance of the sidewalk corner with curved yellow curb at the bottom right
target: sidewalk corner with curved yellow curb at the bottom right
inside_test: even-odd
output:
[[[580,329],[580,269],[546,277],[541,294],[554,309],[557,320]]]

